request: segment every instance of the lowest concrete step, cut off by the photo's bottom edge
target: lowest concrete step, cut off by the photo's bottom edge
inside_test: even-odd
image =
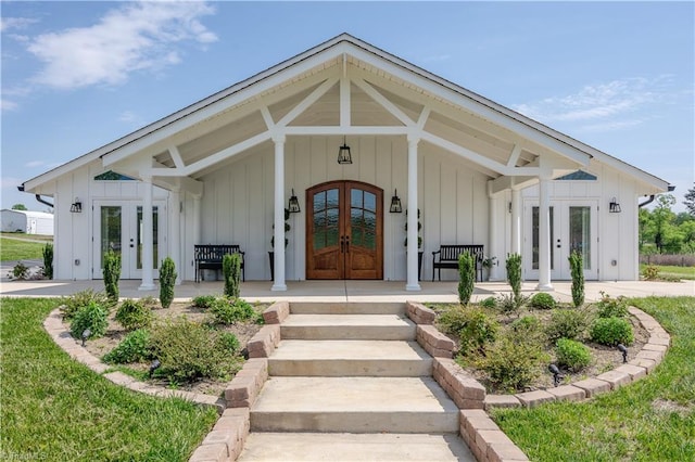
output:
[[[237,460],[475,462],[476,458],[452,434],[251,433]]]

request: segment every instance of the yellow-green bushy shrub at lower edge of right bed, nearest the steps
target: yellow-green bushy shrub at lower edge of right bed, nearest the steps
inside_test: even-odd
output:
[[[510,332],[489,345],[476,364],[496,388],[514,392],[529,386],[548,361],[549,356],[540,342]]]

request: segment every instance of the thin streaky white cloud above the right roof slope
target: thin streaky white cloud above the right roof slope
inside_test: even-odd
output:
[[[668,80],[668,76],[614,80],[585,86],[574,94],[551,97],[514,108],[546,124],[587,124],[581,127],[585,131],[620,130],[642,124],[646,116],[639,114],[645,107],[668,100],[664,90]]]

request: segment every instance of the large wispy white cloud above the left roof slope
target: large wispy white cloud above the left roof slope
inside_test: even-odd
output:
[[[199,21],[212,13],[203,2],[128,3],[93,26],[40,35],[28,46],[45,63],[34,81],[63,89],[117,85],[132,72],[179,63],[181,42],[217,40]]]

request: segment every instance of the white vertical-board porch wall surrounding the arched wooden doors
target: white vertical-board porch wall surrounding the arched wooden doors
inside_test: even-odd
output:
[[[339,137],[288,137],[285,143],[285,203],[292,189],[302,211],[289,219],[287,280],[305,279],[306,190],[333,180],[356,180],[383,189],[384,280],[403,281],[405,268],[405,213],[390,214],[394,190],[407,208],[407,143],[404,137],[350,137],[353,164],[337,163]],[[424,238],[422,279],[432,274],[432,252],[440,244],[488,245],[489,201],[486,177],[471,170],[454,155],[426,143],[418,145],[418,206]],[[200,240],[194,242],[187,219],[188,248],[194,243],[239,244],[245,251],[248,280],[269,280],[268,251],[273,235],[274,146],[260,146],[201,178]],[[186,201],[185,209],[193,206]],[[188,217],[188,215],[187,215]],[[187,273],[188,274],[188,273]],[[187,275],[187,279],[190,277]],[[443,280],[456,280],[444,270]]]

